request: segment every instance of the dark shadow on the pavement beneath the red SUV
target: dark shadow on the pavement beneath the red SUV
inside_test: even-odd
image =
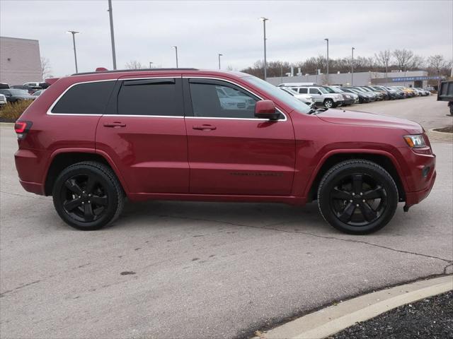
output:
[[[396,213],[396,216],[398,213]],[[152,220],[151,220],[152,218]],[[153,227],[156,219],[174,220],[183,225],[185,222],[207,222],[207,225],[225,225],[233,227],[254,227],[277,229],[283,232],[309,232],[322,235],[339,235],[323,220],[316,202],[306,206],[289,206],[279,203],[209,203],[190,201],[146,201],[127,202],[120,218],[111,226]],[[399,222],[391,222],[377,234],[394,234]],[[391,227],[392,225],[396,227]],[[169,226],[171,227],[171,226]],[[346,235],[346,234],[343,234]]]

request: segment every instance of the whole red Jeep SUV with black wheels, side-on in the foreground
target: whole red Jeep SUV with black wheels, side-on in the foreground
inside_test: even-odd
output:
[[[17,121],[23,188],[96,230],[130,201],[317,200],[333,227],[365,234],[428,196],[423,128],[313,110],[245,73],[159,69],[59,78]],[[257,215],[257,218],[259,216]]]

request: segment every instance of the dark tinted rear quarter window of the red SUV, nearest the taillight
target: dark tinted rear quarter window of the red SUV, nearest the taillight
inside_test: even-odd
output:
[[[115,81],[79,83],[74,85],[58,100],[52,113],[60,114],[104,114]]]

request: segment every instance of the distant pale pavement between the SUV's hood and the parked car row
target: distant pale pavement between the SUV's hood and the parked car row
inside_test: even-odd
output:
[[[445,127],[452,124],[452,116],[445,101],[437,101],[437,95],[429,97],[409,97],[402,100],[369,102],[345,107],[353,111],[379,113],[417,121],[425,130]]]

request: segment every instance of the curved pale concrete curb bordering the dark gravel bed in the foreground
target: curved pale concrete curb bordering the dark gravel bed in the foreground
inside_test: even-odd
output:
[[[262,339],[321,339],[398,306],[453,290],[453,275],[396,286],[326,307],[262,333]]]

